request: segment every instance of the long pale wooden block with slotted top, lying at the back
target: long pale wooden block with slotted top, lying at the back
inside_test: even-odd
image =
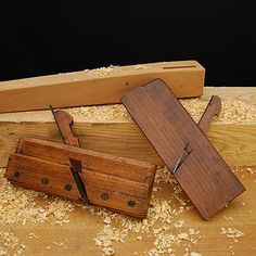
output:
[[[106,72],[107,71],[107,72]],[[0,82],[0,113],[118,103],[128,91],[154,79],[178,98],[203,93],[205,69],[196,61],[163,62]]]

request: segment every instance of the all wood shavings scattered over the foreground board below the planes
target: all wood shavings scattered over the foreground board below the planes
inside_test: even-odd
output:
[[[233,171],[238,171],[239,169],[240,168],[236,167]],[[69,222],[68,213],[73,212],[75,206],[79,206],[80,210],[98,215],[102,219],[101,228],[95,233],[94,243],[104,255],[114,255],[116,243],[126,243],[129,240],[140,242],[144,240],[145,236],[152,239],[153,247],[143,252],[150,256],[161,254],[175,256],[180,255],[180,251],[183,251],[182,255],[187,256],[201,255],[199,252],[193,252],[193,245],[200,243],[202,238],[200,230],[190,227],[189,223],[185,223],[185,220],[182,219],[184,214],[193,208],[193,206],[187,196],[183,196],[182,189],[167,167],[157,167],[154,187],[158,188],[159,184],[167,185],[170,191],[168,193],[168,200],[158,195],[162,189],[155,189],[148,218],[143,220],[132,219],[103,207],[76,204],[61,199],[51,199],[41,193],[13,187],[3,178],[3,172],[4,170],[1,169],[0,219],[2,223],[26,223],[31,221],[63,225]],[[39,206],[36,202],[38,199],[44,200],[47,206]],[[13,209],[14,201],[16,209]],[[221,234],[226,234],[228,238],[232,236],[234,240],[243,235],[242,231],[231,228],[222,228]],[[37,236],[29,233],[29,238]],[[231,249],[232,246],[233,245],[230,245],[231,253],[233,253]],[[25,249],[25,246],[22,247]],[[8,248],[4,246],[0,248],[0,252],[1,249],[4,253],[4,249]],[[8,255],[3,253],[2,255]],[[139,255],[141,252],[133,252],[133,254]]]

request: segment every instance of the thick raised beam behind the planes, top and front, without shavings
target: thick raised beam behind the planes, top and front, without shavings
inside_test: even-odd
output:
[[[213,94],[256,106],[256,88],[205,88],[203,99],[209,100]],[[74,120],[74,133],[81,148],[163,164],[130,119],[95,121],[75,115]],[[231,119],[214,121],[207,137],[229,165],[253,165],[256,161],[255,135],[256,121]],[[7,166],[9,153],[24,136],[62,142],[50,111],[0,114],[0,166]]]

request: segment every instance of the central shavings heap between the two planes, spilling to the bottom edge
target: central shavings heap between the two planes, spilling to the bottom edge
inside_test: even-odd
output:
[[[102,208],[97,210],[98,215],[102,215],[104,227],[99,230],[94,241],[104,255],[115,253],[113,243],[125,243],[127,236],[131,236],[133,241],[141,241],[141,234],[146,234],[153,239],[154,247],[144,252],[150,256],[157,256],[163,253],[176,255],[176,247],[180,245],[184,247],[184,255],[201,255],[196,252],[190,252],[191,246],[201,239],[200,231],[194,228],[185,229],[184,220],[180,219],[193,206],[189,200],[179,197],[182,190],[166,167],[158,167],[157,169],[155,185],[159,183],[169,183],[172,192],[170,192],[168,201],[157,199],[153,193],[146,219],[137,220]],[[85,206],[85,208],[93,213],[97,209],[92,206]],[[123,228],[116,228],[117,223],[118,227]],[[137,254],[135,252],[135,255]]]

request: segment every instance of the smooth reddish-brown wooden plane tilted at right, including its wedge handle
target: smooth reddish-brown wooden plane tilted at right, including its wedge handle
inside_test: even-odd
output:
[[[161,79],[132,90],[121,102],[204,219],[245,190],[204,135],[218,108],[209,104],[199,127]]]

